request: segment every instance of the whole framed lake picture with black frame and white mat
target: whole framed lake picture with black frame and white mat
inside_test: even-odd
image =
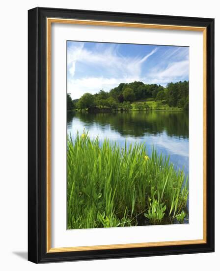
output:
[[[28,10],[28,260],[214,251],[214,19]]]

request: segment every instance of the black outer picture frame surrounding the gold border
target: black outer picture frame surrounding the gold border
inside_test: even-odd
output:
[[[46,19],[66,18],[207,29],[207,242],[47,253]],[[214,252],[214,19],[36,7],[28,10],[28,260],[33,263]]]

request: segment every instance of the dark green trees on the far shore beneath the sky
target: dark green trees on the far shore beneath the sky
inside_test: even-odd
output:
[[[135,102],[136,109],[148,109],[146,101],[161,101],[169,106],[189,110],[189,81],[171,82],[166,87],[144,84],[139,81],[121,83],[109,92],[100,90],[94,95],[85,93],[77,100],[72,100],[70,94],[67,94],[68,110],[86,108],[90,110],[95,108],[130,110],[132,102]]]

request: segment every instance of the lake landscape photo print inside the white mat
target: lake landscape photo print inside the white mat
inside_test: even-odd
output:
[[[189,47],[67,41],[67,229],[187,224],[188,173]]]

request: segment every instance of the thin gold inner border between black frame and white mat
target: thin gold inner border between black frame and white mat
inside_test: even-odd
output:
[[[114,27],[131,27],[131,28],[147,28],[147,29],[162,29],[162,30],[180,30],[180,31],[199,31],[203,32],[203,239],[197,240],[178,240],[178,241],[161,241],[161,242],[145,242],[145,243],[130,243],[130,244],[111,244],[111,245],[94,245],[94,246],[77,246],[77,247],[51,247],[51,25],[52,23],[59,24],[78,24],[78,25],[93,25],[93,26],[114,26]],[[96,21],[96,20],[77,20],[77,19],[61,19],[61,18],[47,18],[47,136],[46,136],[46,202],[47,202],[47,253],[54,252],[70,252],[70,251],[88,251],[88,250],[102,250],[102,249],[119,249],[119,248],[137,248],[137,247],[155,247],[168,245],[186,245],[186,244],[201,244],[207,242],[207,209],[206,209],[206,136],[207,136],[207,121],[206,121],[206,95],[207,95],[207,30],[205,27],[192,26],[176,26],[176,25],[160,25],[160,24],[143,24],[143,23],[126,23],[126,22],[111,22],[111,21]]]

